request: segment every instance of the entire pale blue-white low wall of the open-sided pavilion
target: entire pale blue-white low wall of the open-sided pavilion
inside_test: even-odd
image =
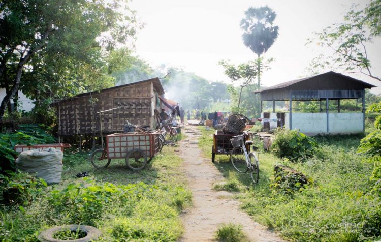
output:
[[[290,128],[290,113],[285,114],[285,127]],[[329,113],[329,134],[354,134],[363,132],[363,113]],[[292,129],[308,135],[327,133],[326,113],[293,113]]]

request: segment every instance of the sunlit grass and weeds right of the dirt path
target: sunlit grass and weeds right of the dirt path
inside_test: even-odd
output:
[[[214,131],[200,129],[203,136],[199,146],[210,158]],[[373,186],[369,180],[373,164],[363,162],[363,157],[356,152],[362,137],[317,137],[320,147],[317,154],[299,164],[284,162],[261,149],[258,185],[251,183],[249,174],[236,172],[225,155],[216,155],[214,165],[226,178],[226,184],[242,188],[235,194],[241,208],[285,239],[373,241],[381,233],[381,209],[379,200],[369,193]],[[271,188],[277,163],[303,172],[314,185],[291,195]],[[221,189],[229,190],[229,186]]]

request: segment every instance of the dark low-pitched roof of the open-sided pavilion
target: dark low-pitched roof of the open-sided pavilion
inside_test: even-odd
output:
[[[341,82],[337,82],[336,80],[338,79],[341,80]],[[313,76],[309,76],[309,77],[305,77],[305,78],[301,78],[297,80],[283,82],[278,85],[263,88],[261,90],[256,90],[253,93],[262,93],[262,92],[276,90],[276,89],[288,89],[288,90],[350,89],[348,88],[348,86],[349,87],[353,86],[354,89],[365,89],[365,88],[376,87],[372,84],[366,83],[364,81],[360,81],[350,76],[345,76],[340,73],[330,71],[330,72],[317,74],[317,75],[313,75]]]

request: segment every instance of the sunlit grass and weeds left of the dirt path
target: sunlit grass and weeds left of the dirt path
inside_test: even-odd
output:
[[[87,152],[66,153],[60,184],[22,209],[0,206],[0,241],[38,241],[42,230],[71,223],[99,228],[99,241],[176,241],[183,232],[179,214],[192,198],[176,148],[165,146],[139,172],[124,159],[96,170]],[[83,171],[90,176],[75,178]]]

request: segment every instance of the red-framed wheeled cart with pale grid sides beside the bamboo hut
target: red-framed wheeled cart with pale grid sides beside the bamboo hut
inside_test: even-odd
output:
[[[162,131],[153,133],[115,133],[106,136],[106,148],[95,150],[91,164],[96,168],[106,168],[111,159],[125,159],[131,170],[141,170],[160,152]]]

